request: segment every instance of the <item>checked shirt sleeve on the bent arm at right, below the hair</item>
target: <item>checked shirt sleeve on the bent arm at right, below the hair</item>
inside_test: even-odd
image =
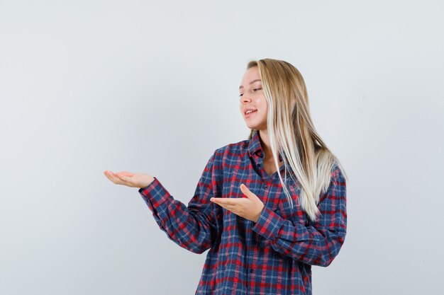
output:
[[[321,195],[316,222],[305,226],[264,207],[252,230],[271,241],[278,253],[309,265],[327,267],[338,255],[347,228],[346,184],[337,165],[333,166],[331,183]]]

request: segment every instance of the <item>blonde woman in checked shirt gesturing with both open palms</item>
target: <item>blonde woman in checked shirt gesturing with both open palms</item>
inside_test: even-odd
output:
[[[172,241],[210,249],[196,294],[311,294],[311,265],[330,265],[344,243],[346,175],[292,64],[250,62],[239,91],[250,136],[214,151],[188,206],[151,175],[105,174],[140,187]]]

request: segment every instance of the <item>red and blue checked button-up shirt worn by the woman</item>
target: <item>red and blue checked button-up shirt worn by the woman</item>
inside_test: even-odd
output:
[[[209,249],[196,294],[311,294],[311,265],[330,265],[344,243],[346,187],[338,166],[313,222],[299,204],[301,188],[287,175],[292,209],[277,171],[267,175],[263,169],[263,156],[258,132],[216,149],[188,206],[157,178],[139,190],[168,238],[193,253]],[[284,178],[283,165],[279,173]],[[257,223],[210,201],[244,197],[241,183],[265,204]]]

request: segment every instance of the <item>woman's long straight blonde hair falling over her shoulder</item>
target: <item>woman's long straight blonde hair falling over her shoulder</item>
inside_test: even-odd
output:
[[[314,128],[309,112],[309,98],[301,73],[295,66],[278,59],[260,59],[248,63],[247,70],[257,66],[262,79],[262,89],[268,103],[267,131],[270,137],[274,165],[279,171],[277,154],[284,161],[285,178],[290,177],[301,187],[299,203],[311,221],[321,212],[317,207],[322,192],[331,182],[331,172],[336,164],[345,176],[338,158]],[[252,129],[248,139],[252,138]],[[290,172],[290,171],[289,171]],[[292,196],[282,180],[285,195],[292,204]],[[295,179],[296,178],[296,179]]]

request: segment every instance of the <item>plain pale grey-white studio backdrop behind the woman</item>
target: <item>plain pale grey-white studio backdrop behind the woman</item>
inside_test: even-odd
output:
[[[348,233],[313,294],[443,294],[443,1],[0,1],[0,294],[194,294],[206,252],[137,188],[187,204],[247,139],[251,59],[304,76],[349,176]]]

